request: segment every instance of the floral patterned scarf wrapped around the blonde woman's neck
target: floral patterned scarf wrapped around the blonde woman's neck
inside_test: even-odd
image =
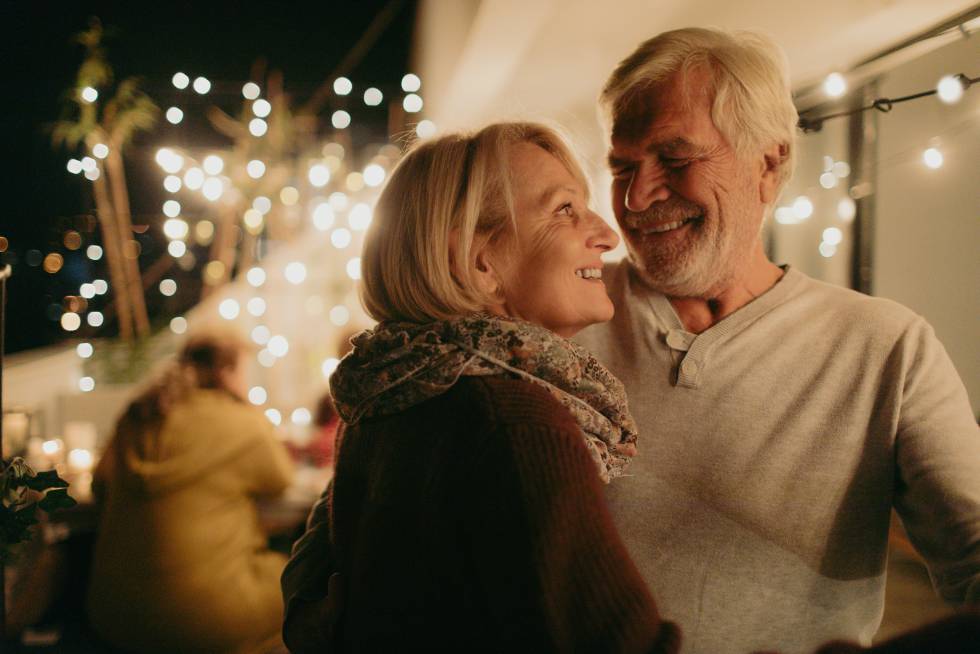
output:
[[[604,482],[622,475],[636,453],[622,383],[544,327],[481,313],[425,325],[385,322],[351,342],[354,350],[330,377],[348,424],[436,397],[464,375],[508,375],[546,388],[571,412]]]

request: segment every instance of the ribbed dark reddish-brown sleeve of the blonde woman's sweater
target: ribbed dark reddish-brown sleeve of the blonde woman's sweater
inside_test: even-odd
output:
[[[674,652],[582,439],[567,421],[498,424],[474,466],[466,526],[503,649]]]

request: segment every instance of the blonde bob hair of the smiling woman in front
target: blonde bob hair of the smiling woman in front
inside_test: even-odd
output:
[[[531,143],[557,158],[588,189],[559,132],[530,122],[420,141],[378,198],[361,254],[361,301],[378,321],[432,322],[485,309],[475,250],[513,234],[510,154]]]

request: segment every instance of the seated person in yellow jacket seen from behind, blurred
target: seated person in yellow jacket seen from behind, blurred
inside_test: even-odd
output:
[[[87,609],[95,632],[137,652],[281,648],[277,579],[256,499],[292,463],[243,401],[246,343],[200,333],[120,418],[95,471],[101,516]]]

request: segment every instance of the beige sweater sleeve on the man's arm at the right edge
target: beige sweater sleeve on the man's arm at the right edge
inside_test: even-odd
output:
[[[966,389],[922,319],[892,364],[902,384],[895,507],[942,597],[980,604],[980,430]]]

